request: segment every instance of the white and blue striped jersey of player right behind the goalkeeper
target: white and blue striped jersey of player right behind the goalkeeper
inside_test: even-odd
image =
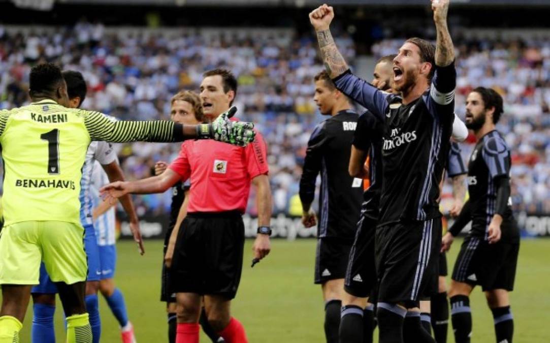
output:
[[[92,141],[86,151],[86,160],[82,167],[82,179],[80,180],[80,222],[82,225],[92,224],[92,210],[94,204],[92,196],[94,193],[90,188],[92,173],[94,172],[95,162],[99,162],[97,169],[102,169],[101,165],[108,165],[116,161],[117,154],[113,151],[111,143],[105,141]],[[98,190],[96,191],[96,193]],[[98,194],[95,194],[98,196]]]

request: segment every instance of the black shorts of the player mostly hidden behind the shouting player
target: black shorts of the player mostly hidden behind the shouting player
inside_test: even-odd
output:
[[[355,241],[349,253],[344,290],[360,298],[370,297],[376,285],[375,232],[376,219],[361,216]]]

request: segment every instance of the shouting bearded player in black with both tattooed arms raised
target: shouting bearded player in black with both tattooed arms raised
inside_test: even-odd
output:
[[[419,296],[432,282],[436,242],[441,240],[439,181],[454,121],[454,47],[447,29],[449,1],[432,2],[437,43],[413,38],[394,59],[388,94],[350,73],[329,24],[332,7],[310,13],[321,56],[337,88],[383,120],[384,182],[376,228],[379,341],[433,342],[420,324]],[[431,84],[431,85],[430,85]],[[404,317],[407,325],[403,333]]]

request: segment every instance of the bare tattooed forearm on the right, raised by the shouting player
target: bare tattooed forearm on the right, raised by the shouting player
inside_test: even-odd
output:
[[[453,40],[447,27],[449,0],[432,0],[433,21],[436,24],[436,66],[447,67],[454,61]]]

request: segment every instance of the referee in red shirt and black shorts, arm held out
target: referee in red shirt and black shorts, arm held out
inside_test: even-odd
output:
[[[237,94],[237,79],[225,69],[204,74],[200,86],[207,121],[226,111]],[[230,315],[243,266],[244,225],[250,184],[257,189],[258,235],[252,247],[260,260],[270,252],[271,190],[266,145],[259,133],[246,148],[188,141],[160,177],[103,187],[111,197],[154,193],[191,179],[187,215],[178,231],[171,287],[178,303],[178,343],[199,341],[201,302],[208,322],[229,343],[246,343],[243,325]],[[174,228],[175,230],[175,228]]]

